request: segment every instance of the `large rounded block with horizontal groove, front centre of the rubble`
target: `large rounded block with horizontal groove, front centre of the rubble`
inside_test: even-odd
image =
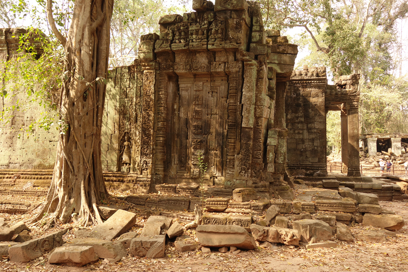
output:
[[[256,249],[253,237],[239,226],[199,225],[196,234],[201,246],[215,248],[236,246],[244,250]]]

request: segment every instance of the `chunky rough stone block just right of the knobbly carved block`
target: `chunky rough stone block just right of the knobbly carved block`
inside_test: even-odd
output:
[[[293,229],[300,234],[302,242],[315,243],[331,239],[330,226],[321,220],[303,219],[293,222]]]

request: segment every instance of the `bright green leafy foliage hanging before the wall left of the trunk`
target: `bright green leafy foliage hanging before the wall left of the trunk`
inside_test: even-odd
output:
[[[36,105],[43,112],[22,131],[33,132],[37,128],[49,130],[55,124],[55,114],[62,87],[60,77],[64,64],[64,50],[55,40],[48,39],[37,29],[19,36],[18,54],[1,63],[3,84],[0,96],[10,102],[0,112],[0,121],[9,123],[14,111],[24,111]],[[20,98],[18,98],[20,97]],[[21,99],[21,97],[27,97]]]

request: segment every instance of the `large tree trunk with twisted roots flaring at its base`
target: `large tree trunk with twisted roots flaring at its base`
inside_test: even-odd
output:
[[[105,104],[110,21],[114,0],[75,0],[72,21],[65,38],[53,27],[51,0],[48,20],[66,52],[66,80],[61,91],[61,134],[57,159],[44,214],[65,223],[101,222],[97,210],[108,192],[100,161],[100,132]]]

